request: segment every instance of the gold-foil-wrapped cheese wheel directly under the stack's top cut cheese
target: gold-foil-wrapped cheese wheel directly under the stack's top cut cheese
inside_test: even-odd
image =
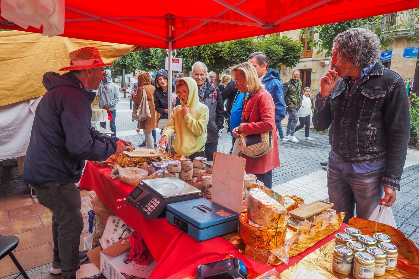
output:
[[[239,216],[239,235],[244,243],[259,249],[275,249],[283,246],[287,224],[276,228],[266,228],[250,220],[247,212]]]

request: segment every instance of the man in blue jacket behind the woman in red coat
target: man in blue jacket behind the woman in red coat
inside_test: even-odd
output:
[[[269,68],[268,58],[263,52],[253,52],[248,61],[252,64],[258,73],[259,80],[265,85],[265,89],[271,93],[275,104],[275,123],[278,127],[281,143],[288,141],[282,132],[281,120],[285,118],[287,110],[285,109],[284,88],[282,87],[279,73]]]

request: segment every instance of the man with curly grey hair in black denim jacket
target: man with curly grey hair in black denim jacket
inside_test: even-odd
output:
[[[355,204],[357,217],[368,219],[377,205],[393,205],[400,190],[409,102],[402,77],[378,63],[380,52],[378,36],[368,29],[338,34],[316,96],[314,127],[331,125],[329,199],[337,212],[346,212],[344,223]]]

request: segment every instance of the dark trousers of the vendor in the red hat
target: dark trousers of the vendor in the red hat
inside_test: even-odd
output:
[[[34,190],[39,203],[52,212],[52,267],[61,268],[62,279],[75,279],[83,231],[80,190],[74,183],[57,181],[35,184]]]

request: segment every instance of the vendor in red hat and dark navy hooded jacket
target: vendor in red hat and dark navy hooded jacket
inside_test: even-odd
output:
[[[31,139],[23,164],[23,181],[32,184],[41,205],[52,212],[54,241],[52,268],[63,279],[75,279],[80,266],[80,180],[85,160],[105,161],[131,143],[110,137],[91,126],[91,103],[103,79],[99,51],[93,47],[70,53],[70,70],[47,72],[42,83],[47,92],[36,108]]]

